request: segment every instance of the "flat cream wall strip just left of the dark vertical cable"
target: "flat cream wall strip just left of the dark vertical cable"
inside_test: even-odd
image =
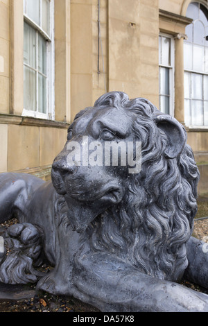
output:
[[[92,1],[71,0],[71,119],[92,105]]]

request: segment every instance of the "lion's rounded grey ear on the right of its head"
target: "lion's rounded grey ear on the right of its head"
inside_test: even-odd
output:
[[[187,132],[182,124],[168,114],[159,114],[154,120],[168,139],[165,155],[171,159],[180,155],[187,141]]]

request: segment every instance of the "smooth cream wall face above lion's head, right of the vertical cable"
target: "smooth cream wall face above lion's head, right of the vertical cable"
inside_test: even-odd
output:
[[[109,1],[109,90],[141,94],[139,0]]]

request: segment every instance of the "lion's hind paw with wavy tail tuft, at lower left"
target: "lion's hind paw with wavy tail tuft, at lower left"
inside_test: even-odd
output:
[[[6,230],[4,238],[6,253],[1,259],[0,282],[37,282],[43,275],[34,268],[42,262],[40,232],[31,223],[17,223]]]

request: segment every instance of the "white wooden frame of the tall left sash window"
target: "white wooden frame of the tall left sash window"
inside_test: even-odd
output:
[[[40,1],[40,22],[42,22],[42,0]],[[36,69],[34,69],[36,74],[36,110],[28,110],[23,108],[22,116],[25,117],[35,117],[37,119],[49,119],[55,120],[55,89],[54,89],[54,80],[55,80],[55,45],[54,45],[54,0],[49,0],[50,2],[50,26],[49,31],[50,35],[44,31],[42,26],[36,24],[33,19],[28,17],[27,15],[27,0],[24,0],[24,23],[31,26],[36,34],[36,44],[38,46],[38,35],[41,35],[46,41],[46,62],[47,62],[47,70],[46,70],[46,113],[42,113],[38,111],[38,75],[40,71],[37,69],[37,58],[38,58],[38,49],[36,49]],[[25,12],[26,10],[26,12]],[[42,24],[42,23],[40,23]],[[24,62],[24,67],[28,67],[28,65]],[[30,66],[29,66],[30,67]],[[31,69],[31,67],[30,67]]]

